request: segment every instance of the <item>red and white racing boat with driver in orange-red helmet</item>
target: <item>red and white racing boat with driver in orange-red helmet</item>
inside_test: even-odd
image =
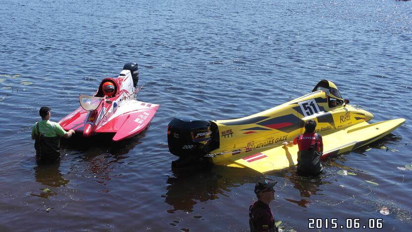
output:
[[[136,100],[142,87],[137,63],[126,63],[117,78],[107,77],[94,96],[80,94],[80,107],[58,123],[84,137],[114,133],[113,141],[130,138],[146,129],[159,105]]]

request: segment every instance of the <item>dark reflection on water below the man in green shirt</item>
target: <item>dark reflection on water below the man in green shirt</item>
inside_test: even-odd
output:
[[[63,177],[60,173],[60,162],[48,165],[38,165],[34,167],[35,180],[41,184],[50,187],[62,187],[66,186],[70,181]],[[39,194],[31,193],[33,196],[39,196],[43,198],[49,198],[50,196],[57,195],[53,188],[41,188]]]

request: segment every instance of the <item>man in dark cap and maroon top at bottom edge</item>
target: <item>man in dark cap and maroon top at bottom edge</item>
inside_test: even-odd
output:
[[[249,207],[249,226],[251,232],[278,232],[275,225],[270,201],[275,199],[273,186],[277,181],[259,180],[255,185],[257,201]]]

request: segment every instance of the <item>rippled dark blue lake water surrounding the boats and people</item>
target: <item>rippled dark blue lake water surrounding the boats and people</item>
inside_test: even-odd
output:
[[[248,231],[262,176],[172,171],[167,123],[248,116],[321,79],[373,121],[407,121],[328,159],[319,178],[267,174],[279,181],[276,221],[318,231],[308,218],[382,218],[383,231],[410,231],[412,171],[398,167],[412,162],[411,44],[411,1],[0,0],[0,231]],[[139,63],[139,100],[161,105],[151,127],[120,143],[65,141],[59,164],[38,167],[39,108],[58,121],[129,61]]]

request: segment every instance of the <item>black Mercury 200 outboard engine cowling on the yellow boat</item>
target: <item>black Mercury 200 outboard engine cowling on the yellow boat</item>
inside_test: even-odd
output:
[[[169,151],[175,156],[203,156],[219,146],[215,124],[193,117],[173,118],[167,126]]]

